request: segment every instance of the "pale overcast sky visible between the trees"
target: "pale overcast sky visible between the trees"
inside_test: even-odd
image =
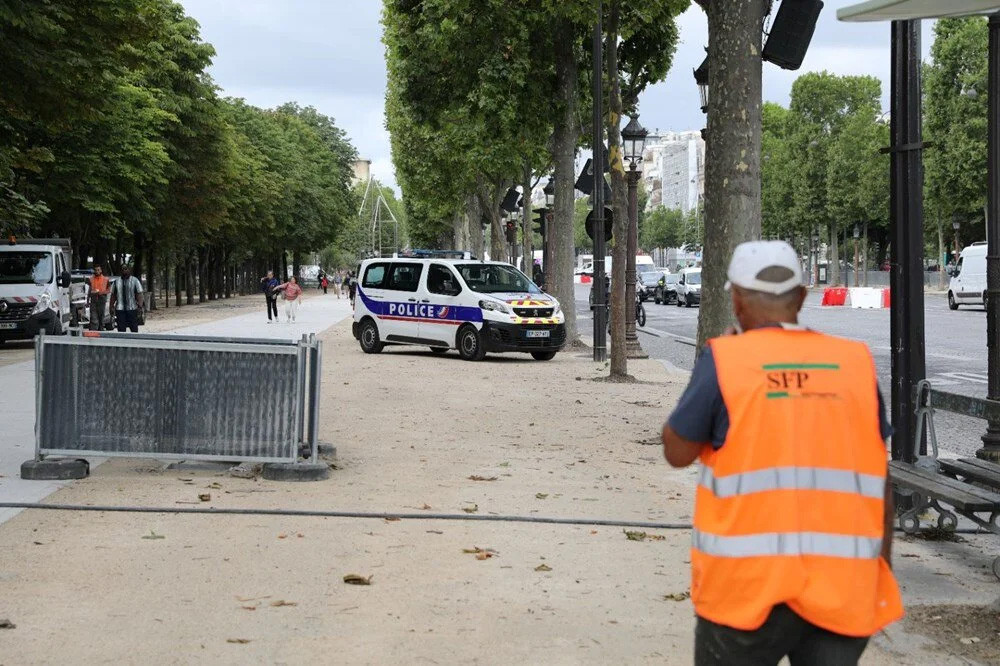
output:
[[[827,0],[799,72],[764,64],[766,100],[787,104],[798,74],[824,69],[878,76],[883,81],[883,99],[887,99],[889,25],[839,23],[837,8],[854,1]],[[288,101],[315,106],[346,130],[362,157],[372,160],[374,175],[395,186],[383,118],[380,0],[181,2],[201,24],[202,38],[215,46],[211,73],[224,94],[262,107]],[[924,26],[925,54],[930,47],[929,27]],[[691,74],[704,58],[707,43],[701,9],[692,4],[681,16],[680,28],[681,44],[670,75],[646,91],[640,102],[641,121],[650,130],[704,126]]]

